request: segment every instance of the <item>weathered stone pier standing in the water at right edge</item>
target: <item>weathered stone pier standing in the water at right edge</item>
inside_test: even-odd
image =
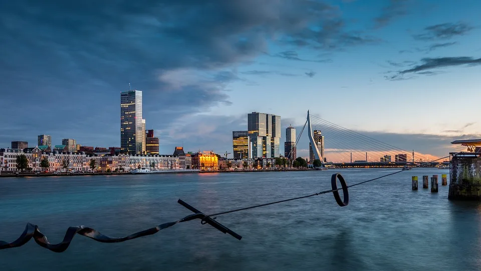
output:
[[[447,198],[481,200],[481,153],[462,152],[452,155]]]

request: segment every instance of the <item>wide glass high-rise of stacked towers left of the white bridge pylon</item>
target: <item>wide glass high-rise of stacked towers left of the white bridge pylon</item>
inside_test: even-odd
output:
[[[281,117],[252,112],[247,116],[248,135],[251,145],[251,158],[279,157],[281,140]]]

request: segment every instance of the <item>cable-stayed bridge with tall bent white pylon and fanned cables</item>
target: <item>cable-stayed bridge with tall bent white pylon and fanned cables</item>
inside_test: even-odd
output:
[[[395,143],[382,142],[312,115],[309,111],[296,144],[306,132],[310,143],[310,160],[319,159],[321,168],[410,167],[421,163],[424,167],[434,167],[440,164],[427,163],[435,157],[399,148]]]

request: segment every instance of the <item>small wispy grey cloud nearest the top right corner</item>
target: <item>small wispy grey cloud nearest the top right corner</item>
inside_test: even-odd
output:
[[[465,23],[445,23],[439,25],[433,25],[424,28],[424,33],[413,35],[415,40],[431,41],[431,40],[449,40],[455,36],[462,36],[473,27]]]

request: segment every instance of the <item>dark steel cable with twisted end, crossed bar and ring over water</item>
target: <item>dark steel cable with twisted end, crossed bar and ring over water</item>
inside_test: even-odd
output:
[[[454,155],[456,155],[456,154],[454,154]],[[223,212],[217,212],[217,213],[208,214],[208,215],[202,213],[201,211],[197,210],[193,206],[191,206],[191,205],[187,204],[186,202],[184,202],[183,200],[179,199],[177,202],[179,204],[181,204],[182,206],[186,207],[187,209],[189,209],[190,211],[192,211],[193,214],[187,215],[187,216],[185,216],[185,217],[183,217],[183,218],[181,218],[177,221],[166,222],[166,223],[157,225],[155,227],[130,234],[130,235],[125,236],[125,237],[109,237],[107,235],[104,235],[104,234],[100,233],[96,229],[81,225],[81,226],[69,227],[67,229],[67,232],[65,233],[64,239],[60,243],[52,244],[48,241],[47,236],[45,236],[40,231],[40,229],[37,225],[32,224],[32,223],[27,223],[27,226],[25,227],[24,232],[20,235],[19,238],[17,238],[17,240],[15,240],[13,242],[6,242],[6,241],[0,240],[0,249],[19,247],[19,246],[22,246],[22,245],[26,244],[28,241],[30,241],[30,239],[34,238],[35,242],[37,244],[39,244],[40,246],[44,247],[44,248],[47,248],[47,249],[49,249],[51,251],[54,251],[54,252],[63,252],[69,247],[69,245],[72,242],[72,239],[74,238],[75,234],[79,234],[79,235],[82,235],[82,236],[89,237],[89,238],[94,239],[98,242],[104,242],[104,243],[123,242],[123,241],[131,240],[131,239],[139,238],[139,237],[142,237],[142,236],[152,235],[152,234],[155,234],[155,233],[159,232],[162,229],[171,227],[171,226],[173,226],[177,223],[186,222],[186,221],[190,221],[190,220],[194,220],[194,219],[200,219],[201,224],[209,224],[209,225],[213,226],[214,228],[218,229],[219,231],[221,231],[223,233],[228,233],[228,234],[232,235],[234,238],[240,240],[240,239],[242,239],[242,236],[238,235],[237,233],[233,232],[229,228],[220,224],[219,222],[217,222],[215,220],[216,217],[212,218],[212,216],[254,209],[254,208],[278,204],[278,203],[282,203],[282,202],[286,202],[286,201],[298,200],[298,199],[308,198],[308,197],[312,197],[312,196],[318,196],[318,195],[331,193],[331,192],[333,193],[336,202],[340,206],[346,206],[346,205],[349,204],[348,188],[350,188],[350,187],[354,187],[356,185],[360,185],[360,184],[364,184],[364,183],[371,182],[371,181],[374,181],[374,180],[378,180],[378,179],[381,179],[381,178],[384,178],[384,177],[387,177],[387,176],[391,176],[391,175],[394,175],[394,174],[397,174],[397,173],[400,173],[400,172],[403,172],[403,171],[406,171],[406,170],[410,170],[410,169],[415,168],[415,167],[420,167],[420,166],[425,165],[427,163],[436,162],[436,161],[439,161],[441,159],[445,159],[445,158],[448,158],[448,157],[449,156],[444,156],[444,157],[441,157],[439,159],[436,159],[436,160],[433,160],[433,161],[430,161],[430,162],[422,163],[422,164],[419,164],[419,165],[416,165],[416,166],[413,166],[413,167],[410,167],[410,168],[407,168],[407,169],[402,169],[402,170],[399,170],[399,171],[396,171],[396,172],[393,172],[393,173],[382,175],[380,177],[372,178],[372,179],[369,179],[369,180],[366,180],[366,181],[358,182],[358,183],[355,183],[355,184],[352,184],[352,185],[347,185],[347,183],[345,182],[342,175],[339,174],[339,173],[335,173],[331,177],[331,188],[332,189],[330,189],[330,190],[324,190],[324,191],[320,191],[320,192],[310,194],[310,195],[288,198],[288,199],[268,202],[268,203],[264,203],[264,204],[257,204],[257,205],[252,205],[252,206],[248,206],[248,207],[243,207],[243,208],[236,208],[236,209],[227,210],[227,211],[223,211]],[[337,187],[337,180],[339,180],[340,183],[341,183],[340,188]],[[343,199],[341,199],[341,197],[339,195],[339,190],[343,190],[343,197],[344,197]]]

